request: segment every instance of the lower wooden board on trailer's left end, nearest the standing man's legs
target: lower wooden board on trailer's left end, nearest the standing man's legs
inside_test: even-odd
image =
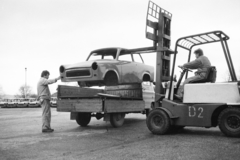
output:
[[[61,99],[57,100],[59,112],[102,112],[102,99]]]

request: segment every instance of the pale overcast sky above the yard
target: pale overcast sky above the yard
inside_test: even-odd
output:
[[[172,49],[180,37],[222,30],[230,36],[230,52],[240,75],[239,0],[153,2],[173,15]],[[43,70],[56,78],[60,65],[85,61],[91,50],[151,46],[145,38],[147,5],[148,0],[0,0],[0,86],[5,94],[17,94],[27,68],[27,85],[36,93]],[[218,80],[224,79],[226,61],[220,43],[202,48],[217,66]],[[154,65],[155,55],[145,60]],[[50,85],[52,93],[59,84],[63,83]]]

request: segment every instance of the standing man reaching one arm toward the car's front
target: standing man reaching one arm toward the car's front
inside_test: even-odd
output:
[[[42,132],[53,132],[51,128],[51,93],[48,88],[49,84],[56,83],[61,77],[48,79],[50,73],[47,70],[42,71],[41,78],[37,84],[38,99],[42,107]]]

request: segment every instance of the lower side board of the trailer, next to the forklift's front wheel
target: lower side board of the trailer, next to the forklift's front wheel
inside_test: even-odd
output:
[[[143,100],[111,100],[106,99],[104,105],[105,113],[116,112],[140,112],[144,110],[145,102]]]

